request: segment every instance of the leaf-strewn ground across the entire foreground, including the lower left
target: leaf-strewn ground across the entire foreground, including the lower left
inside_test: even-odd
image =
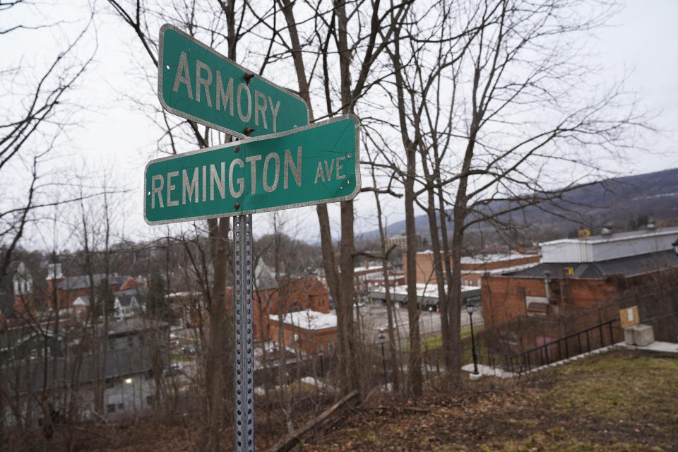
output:
[[[468,382],[452,396],[427,396],[415,405],[372,398],[371,407],[314,432],[295,451],[678,451],[678,355],[612,352],[519,381]],[[296,415],[298,427],[313,413]],[[258,410],[259,451],[285,432],[278,410],[270,429],[265,420]],[[47,445],[40,432],[8,438],[6,450],[197,451],[202,427],[196,415],[83,425],[73,436],[60,429]],[[220,432],[225,450],[232,434],[227,426]]]

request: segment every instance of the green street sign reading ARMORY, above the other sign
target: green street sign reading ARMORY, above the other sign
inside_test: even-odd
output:
[[[301,97],[169,24],[160,28],[157,97],[168,112],[239,138],[309,124]]]

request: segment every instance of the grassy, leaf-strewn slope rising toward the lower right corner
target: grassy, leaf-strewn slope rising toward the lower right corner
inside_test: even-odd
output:
[[[299,451],[678,451],[678,355],[612,352],[352,415]]]

